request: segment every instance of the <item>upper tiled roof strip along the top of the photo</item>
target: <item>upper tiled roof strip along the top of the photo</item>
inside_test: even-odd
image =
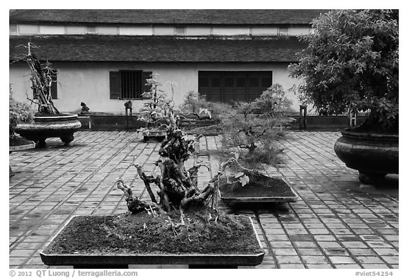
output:
[[[10,23],[309,24],[327,10],[11,10]]]

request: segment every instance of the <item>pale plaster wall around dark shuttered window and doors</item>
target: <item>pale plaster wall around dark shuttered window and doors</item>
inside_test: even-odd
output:
[[[274,64],[169,64],[169,63],[55,63],[57,69],[58,99],[54,103],[60,112],[74,112],[84,102],[92,112],[124,114],[126,100],[111,100],[109,91],[109,71],[139,69],[159,74],[162,90],[170,93],[174,86],[174,102],[183,103],[189,91],[198,91],[198,71],[273,71],[273,83],[280,83],[285,90],[298,83],[288,77],[287,63]],[[30,72],[26,64],[11,64],[10,83],[14,98],[25,101],[27,95],[32,98]],[[293,100],[293,110],[298,109],[298,102],[293,93],[288,93]],[[145,100],[132,100],[134,111],[139,110]]]

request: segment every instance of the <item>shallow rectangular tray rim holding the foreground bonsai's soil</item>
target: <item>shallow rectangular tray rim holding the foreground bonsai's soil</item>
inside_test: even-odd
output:
[[[263,260],[265,253],[257,254],[102,254],[102,255],[84,255],[84,254],[48,254],[47,248],[55,241],[55,238],[62,233],[64,228],[69,226],[65,224],[61,230],[52,238],[44,250],[40,252],[40,257],[45,265],[72,265],[74,268],[127,268],[128,265],[189,265],[191,268],[225,268],[237,267],[239,265],[253,266],[259,265]],[[91,218],[92,216],[87,216]],[[242,216],[248,217],[248,216]],[[248,217],[251,221],[251,218]],[[256,233],[254,223],[251,226],[256,236],[256,241],[261,246],[259,236]],[[213,266],[213,267],[212,267]]]

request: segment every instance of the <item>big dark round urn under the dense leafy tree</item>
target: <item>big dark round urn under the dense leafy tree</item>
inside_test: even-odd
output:
[[[358,170],[361,183],[375,184],[388,173],[398,173],[398,134],[345,129],[334,144],[346,166]]]

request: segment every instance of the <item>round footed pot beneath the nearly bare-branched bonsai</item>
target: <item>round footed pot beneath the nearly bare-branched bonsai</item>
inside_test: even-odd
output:
[[[33,123],[17,124],[16,133],[35,141],[37,146],[45,146],[45,139],[51,137],[58,137],[67,145],[80,128],[76,114],[35,115]]]

